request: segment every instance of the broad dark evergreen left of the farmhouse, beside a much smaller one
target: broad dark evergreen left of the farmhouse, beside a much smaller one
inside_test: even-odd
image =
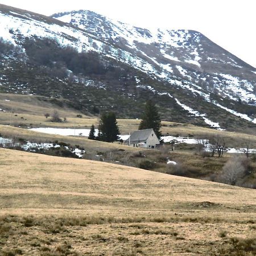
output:
[[[117,125],[117,118],[115,113],[108,112],[102,113],[100,119],[100,125],[98,126],[100,133],[100,141],[114,142],[118,140],[119,129]]]

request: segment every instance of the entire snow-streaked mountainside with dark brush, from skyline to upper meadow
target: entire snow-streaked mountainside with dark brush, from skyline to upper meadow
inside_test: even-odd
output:
[[[113,109],[132,118],[154,98],[163,119],[255,127],[256,69],[199,32],[146,30],[91,11],[50,18],[0,5],[0,35],[1,92],[65,98],[82,112]]]

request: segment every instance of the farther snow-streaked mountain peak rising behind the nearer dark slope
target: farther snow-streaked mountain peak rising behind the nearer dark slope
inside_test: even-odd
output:
[[[249,104],[256,100],[256,69],[199,32],[148,30],[84,10],[52,17],[139,56],[159,71],[159,77],[191,81],[192,91],[207,90],[209,94],[215,90],[221,96],[233,100],[239,97]]]

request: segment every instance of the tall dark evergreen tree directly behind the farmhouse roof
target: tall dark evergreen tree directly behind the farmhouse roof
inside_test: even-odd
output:
[[[142,114],[142,120],[139,124],[139,130],[153,129],[158,138],[161,137],[161,119],[154,102],[148,100],[145,105],[144,113]]]

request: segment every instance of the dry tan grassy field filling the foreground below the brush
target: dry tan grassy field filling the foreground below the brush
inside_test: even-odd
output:
[[[253,189],[0,149],[1,255],[255,255]]]

